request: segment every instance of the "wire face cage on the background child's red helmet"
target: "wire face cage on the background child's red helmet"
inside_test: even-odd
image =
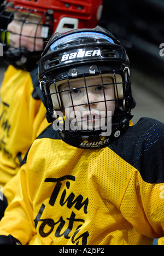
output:
[[[52,31],[53,17],[52,15],[44,11],[17,7],[10,2],[1,11],[0,16],[1,16],[1,19],[4,20],[4,23],[3,23],[4,26],[0,28],[1,42],[3,43],[4,46],[8,45],[14,48],[14,45],[10,45],[9,34],[11,33],[19,36],[19,40],[17,42],[17,45],[19,46],[19,48],[24,46],[21,43],[21,37],[33,38],[34,48],[31,50],[35,51],[37,50],[36,39],[44,40],[45,38],[48,38],[50,36]],[[13,31],[14,28],[12,30],[12,27],[10,25],[11,22],[13,22],[15,25],[19,25],[19,26],[16,26],[16,28],[19,27],[19,31],[16,31],[16,28],[15,28],[15,31]],[[30,33],[26,34],[24,32],[24,27],[27,25],[33,28],[33,30],[31,30],[33,32],[33,35],[31,35]],[[37,33],[38,28],[40,28],[40,31],[41,31],[39,36]],[[17,46],[15,48],[17,48]]]

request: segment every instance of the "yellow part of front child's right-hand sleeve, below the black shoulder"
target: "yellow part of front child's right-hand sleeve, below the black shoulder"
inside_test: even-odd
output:
[[[164,183],[144,182],[134,172],[122,199],[120,211],[124,218],[144,236],[164,235]]]

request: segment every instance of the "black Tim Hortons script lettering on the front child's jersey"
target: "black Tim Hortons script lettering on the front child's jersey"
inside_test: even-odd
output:
[[[49,205],[51,207],[56,207],[56,199],[60,199],[59,202],[61,207],[66,205],[67,208],[71,209],[74,206],[76,210],[83,211],[85,214],[87,214],[87,206],[89,204],[88,198],[84,200],[82,195],[78,195],[75,198],[74,193],[67,195],[71,183],[75,182],[74,176],[68,175],[60,178],[46,178],[44,182],[55,184],[54,190],[52,191],[49,200]],[[60,198],[58,198],[59,193],[61,192],[62,194]],[[59,219],[43,219],[42,215],[43,212],[46,212],[46,207],[48,206],[45,206],[44,203],[42,203],[42,206],[40,207],[39,212],[34,219],[35,227],[36,229],[38,228],[37,230],[40,236],[47,237],[53,232],[55,237],[63,236],[65,239],[71,238],[71,242],[73,244],[78,245],[80,242],[81,245],[87,245],[87,237],[89,236],[89,232],[86,231],[78,236],[80,227],[85,223],[84,219],[76,218],[76,215],[73,211],[71,212],[71,216],[65,219],[62,216]],[[63,212],[66,211],[63,210]],[[75,230],[75,232],[72,233],[72,230]]]

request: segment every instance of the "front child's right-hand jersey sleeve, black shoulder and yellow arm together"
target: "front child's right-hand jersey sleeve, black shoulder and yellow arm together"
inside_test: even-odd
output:
[[[137,131],[141,131],[139,136]],[[131,143],[127,145],[125,142]],[[143,118],[132,127],[130,136],[121,146],[120,155],[125,152],[121,156],[133,168],[122,197],[121,213],[140,234],[151,238],[163,237],[164,125]]]

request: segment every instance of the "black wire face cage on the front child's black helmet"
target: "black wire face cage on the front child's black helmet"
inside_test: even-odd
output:
[[[93,69],[94,66],[90,66],[90,70]],[[40,83],[47,109],[51,109],[53,129],[63,139],[71,134],[83,137],[80,147],[104,147],[112,131],[114,138],[119,137],[120,127],[124,129],[127,116],[131,117],[131,99],[124,95],[130,82],[123,82],[120,70],[80,77],[74,77],[75,72],[73,68],[73,77]],[[95,140],[95,136],[99,140]]]

